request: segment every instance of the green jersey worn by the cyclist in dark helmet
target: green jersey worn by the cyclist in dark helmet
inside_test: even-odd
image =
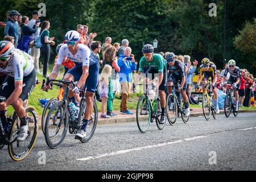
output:
[[[163,56],[154,53],[152,61],[147,61],[145,56],[141,58],[139,61],[139,72],[143,72],[144,66],[150,66],[155,71],[158,71],[158,73],[163,73],[164,68],[166,68],[166,61]]]

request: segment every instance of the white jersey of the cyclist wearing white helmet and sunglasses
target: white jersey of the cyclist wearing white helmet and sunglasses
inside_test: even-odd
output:
[[[82,66],[89,66],[89,57],[90,57],[90,49],[83,45],[78,44],[78,50],[75,55],[73,55],[70,51],[68,51],[68,45],[65,44],[61,46],[59,51],[59,57],[56,61],[56,64],[61,65],[64,59],[64,56],[67,56],[68,59],[73,61],[75,64],[81,64]]]

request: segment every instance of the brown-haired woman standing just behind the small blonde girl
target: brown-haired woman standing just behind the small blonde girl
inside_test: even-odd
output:
[[[103,67],[105,67],[106,64],[110,65],[112,67],[112,81],[113,81],[113,93],[109,93],[108,98],[108,105],[107,105],[107,115],[110,117],[115,117],[117,114],[113,113],[113,101],[114,101],[114,94],[118,92],[118,72],[120,71],[120,68],[117,64],[117,57],[115,57],[115,47],[110,46],[104,51],[104,60],[103,60]]]

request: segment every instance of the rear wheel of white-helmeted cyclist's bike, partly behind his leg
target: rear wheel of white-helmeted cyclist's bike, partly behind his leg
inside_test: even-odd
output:
[[[79,111],[79,118],[78,118],[79,119],[78,121],[81,121],[81,122],[84,119],[84,113],[86,109],[86,102],[85,100],[82,100],[82,101],[83,102],[81,102],[82,105]],[[93,100],[92,115],[86,127],[86,137],[80,140],[82,143],[89,142],[89,140],[93,137],[93,134],[97,127],[97,123],[98,123],[98,108],[97,108],[96,102]]]

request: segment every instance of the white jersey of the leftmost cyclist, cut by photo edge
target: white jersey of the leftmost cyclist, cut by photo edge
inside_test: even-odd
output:
[[[14,77],[14,81],[22,81],[23,77],[30,75],[34,69],[34,59],[28,53],[14,49],[14,55],[8,61],[5,68],[0,68],[0,72]]]

